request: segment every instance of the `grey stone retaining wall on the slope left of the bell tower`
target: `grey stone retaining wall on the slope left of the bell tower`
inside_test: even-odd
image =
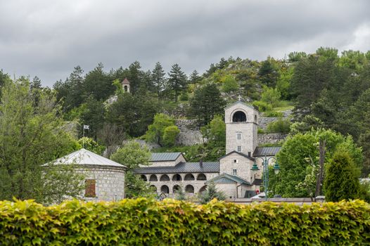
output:
[[[196,124],[196,119],[177,119],[175,124],[180,130],[180,134],[176,141],[177,145],[194,145],[203,143],[203,136]]]

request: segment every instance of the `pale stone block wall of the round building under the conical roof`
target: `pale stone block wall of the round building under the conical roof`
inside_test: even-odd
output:
[[[86,165],[76,170],[84,174],[85,180],[95,180],[95,197],[81,197],[87,201],[118,201],[125,198],[125,169]]]

